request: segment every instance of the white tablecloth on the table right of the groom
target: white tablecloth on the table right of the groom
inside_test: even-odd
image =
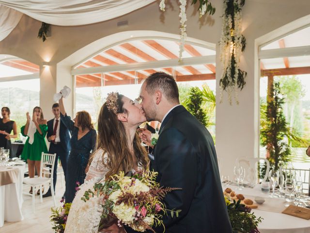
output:
[[[247,198],[247,195],[268,198],[269,195],[264,194],[259,185],[254,188],[244,188],[243,190],[237,190],[237,187],[233,185],[228,185],[227,187],[232,188],[237,194],[243,194],[245,198]],[[226,187],[223,186],[224,190],[225,188]],[[277,198],[277,200],[279,200],[279,198]],[[263,203],[263,205],[265,204],[266,202]],[[284,204],[285,201],[283,199],[283,209],[285,209]],[[257,217],[263,217],[262,222],[258,225],[258,229],[261,233],[310,233],[310,220],[281,213],[263,211],[260,210],[259,204],[257,209],[252,209],[252,212],[254,212],[254,215]]]

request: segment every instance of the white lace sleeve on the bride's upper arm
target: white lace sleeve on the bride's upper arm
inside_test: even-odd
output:
[[[103,150],[97,150],[86,174],[86,182],[90,180],[99,181],[104,178],[109,168],[104,165],[103,159],[107,159],[107,154]]]

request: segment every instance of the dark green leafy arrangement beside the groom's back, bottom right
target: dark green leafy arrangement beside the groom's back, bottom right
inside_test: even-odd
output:
[[[241,200],[227,205],[229,220],[232,224],[233,233],[258,233],[258,223],[262,222],[262,217],[256,218],[251,209],[244,204],[240,204]]]

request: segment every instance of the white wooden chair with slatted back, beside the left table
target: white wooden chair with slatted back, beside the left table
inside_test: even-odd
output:
[[[26,195],[32,196],[32,212],[34,213],[34,197],[36,193],[36,188],[40,190],[40,201],[43,202],[42,198],[42,186],[49,185],[52,193],[52,198],[54,201],[54,206],[56,206],[54,186],[53,186],[53,171],[55,164],[55,154],[47,154],[42,152],[41,164],[40,164],[40,176],[33,178],[25,178],[23,183],[30,185],[32,187],[32,194],[24,193]],[[47,176],[47,177],[46,177]]]

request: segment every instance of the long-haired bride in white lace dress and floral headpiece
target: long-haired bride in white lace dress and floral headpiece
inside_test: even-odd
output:
[[[149,159],[140,145],[138,126],[146,121],[139,103],[118,93],[109,93],[98,117],[97,150],[90,158],[90,167],[83,183],[72,201],[65,233],[97,233],[102,208],[94,197],[90,201],[81,200],[94,183],[104,182],[119,171],[146,168]],[[113,224],[109,229],[124,232]]]

